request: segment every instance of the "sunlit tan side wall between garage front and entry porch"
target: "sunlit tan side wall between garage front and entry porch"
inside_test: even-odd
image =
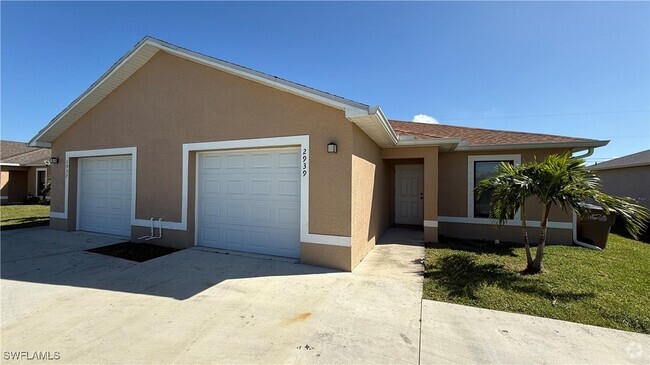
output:
[[[388,170],[381,148],[357,126],[352,150],[352,268],[389,226]]]

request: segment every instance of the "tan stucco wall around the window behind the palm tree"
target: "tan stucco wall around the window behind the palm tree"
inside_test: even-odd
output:
[[[443,217],[467,217],[467,163],[468,156],[477,155],[521,155],[521,161],[532,161],[535,158],[542,160],[549,154],[563,153],[562,149],[544,150],[519,150],[519,151],[480,151],[480,152],[446,152],[441,153],[439,158],[440,175],[439,179],[439,214]],[[542,207],[534,199],[526,203],[527,220],[540,221]],[[571,222],[571,214],[562,212],[557,207],[551,208],[550,220],[552,222]],[[446,236],[477,238],[477,239],[500,239],[509,241],[521,240],[521,229],[517,227],[505,227],[495,230],[492,225],[467,224],[467,223],[445,223],[441,222],[439,233]],[[531,235],[531,237],[533,237]],[[550,229],[549,239],[557,243],[570,244],[570,229]]]

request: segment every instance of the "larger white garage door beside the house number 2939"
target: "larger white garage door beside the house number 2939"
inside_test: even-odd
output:
[[[199,154],[197,244],[300,256],[298,148]]]

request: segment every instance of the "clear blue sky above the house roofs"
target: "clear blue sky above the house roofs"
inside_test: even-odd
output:
[[[389,118],[650,148],[650,3],[1,2],[2,139],[27,141],[145,35]]]

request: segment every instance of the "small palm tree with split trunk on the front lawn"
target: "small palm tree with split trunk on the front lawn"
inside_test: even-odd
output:
[[[584,216],[588,210],[583,203],[594,201],[605,214],[614,212],[623,219],[634,238],[650,220],[650,211],[636,204],[634,199],[613,197],[601,192],[600,179],[587,170],[583,159],[573,158],[570,153],[550,155],[542,162],[531,161],[520,166],[502,163],[495,176],[479,184],[477,193],[480,196],[488,190],[492,190],[490,218],[497,225],[503,225],[512,219],[517,209],[521,210],[525,245],[528,238],[524,203],[527,198],[535,197],[543,207],[535,259],[531,260],[529,248],[526,252],[526,271],[529,273],[542,271],[549,213],[553,205],[565,213],[575,211],[578,216]]]

